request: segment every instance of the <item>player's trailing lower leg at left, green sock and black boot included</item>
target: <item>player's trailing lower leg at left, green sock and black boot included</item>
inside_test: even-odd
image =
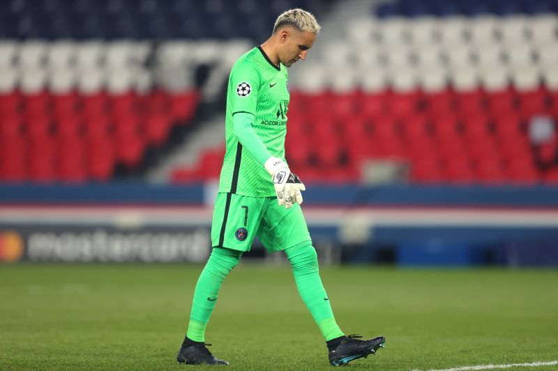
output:
[[[194,291],[190,322],[186,338],[176,355],[179,363],[225,364],[205,347],[205,329],[217,302],[219,289],[225,277],[239,263],[241,251],[229,248],[213,248]]]

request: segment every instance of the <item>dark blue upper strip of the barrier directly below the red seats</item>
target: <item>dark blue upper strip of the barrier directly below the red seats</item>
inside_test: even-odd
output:
[[[177,186],[143,183],[71,185],[0,184],[0,203],[137,203],[193,204],[204,202],[203,184]],[[426,207],[558,207],[558,187],[455,187],[357,185],[309,187],[306,205]]]

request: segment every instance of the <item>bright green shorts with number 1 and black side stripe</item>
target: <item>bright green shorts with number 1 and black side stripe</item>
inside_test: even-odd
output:
[[[301,207],[279,206],[276,197],[220,193],[211,224],[211,246],[250,251],[257,236],[267,251],[312,241]]]

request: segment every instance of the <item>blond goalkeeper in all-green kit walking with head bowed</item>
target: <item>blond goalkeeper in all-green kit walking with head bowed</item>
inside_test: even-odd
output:
[[[206,348],[205,329],[221,283],[255,236],[268,251],[287,254],[332,365],[368,356],[384,344],[382,336],[345,336],[335,322],[299,206],[305,187],[285,161],[287,68],[306,59],[319,29],[312,14],[287,10],[276,20],[269,40],[234,63],[227,88],[226,153],[211,226],[213,250],[195,287],[188,332],[176,356],[179,363],[228,364]]]

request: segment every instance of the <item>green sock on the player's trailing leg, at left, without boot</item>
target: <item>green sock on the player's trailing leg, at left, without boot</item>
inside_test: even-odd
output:
[[[221,284],[239,263],[242,253],[229,248],[213,248],[202,274],[199,275],[194,291],[194,301],[188,332],[190,340],[204,342],[205,328],[215,308]]]

